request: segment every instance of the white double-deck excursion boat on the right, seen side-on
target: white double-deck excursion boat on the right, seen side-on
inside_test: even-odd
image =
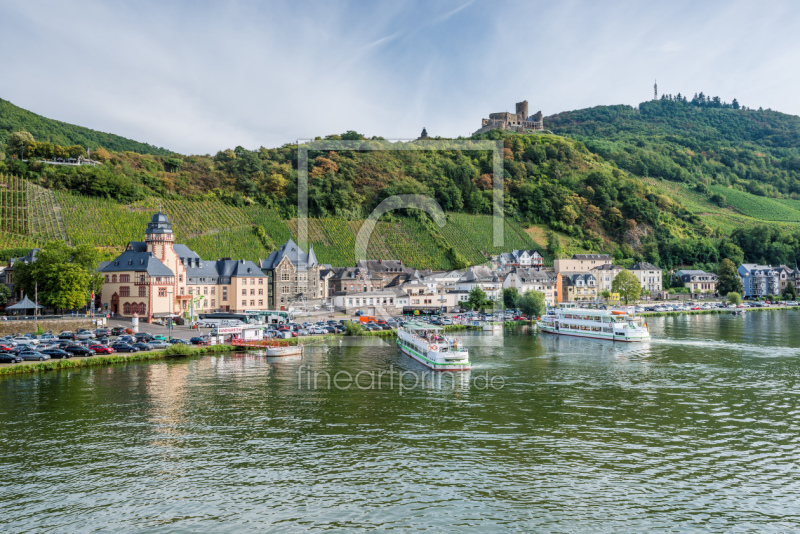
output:
[[[588,310],[563,302],[536,323],[542,332],[611,341],[649,341],[650,329],[633,310]]]

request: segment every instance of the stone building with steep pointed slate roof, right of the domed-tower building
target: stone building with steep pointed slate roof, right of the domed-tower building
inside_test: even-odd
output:
[[[317,302],[324,294],[320,288],[323,267],[317,261],[314,247],[306,254],[289,239],[267,259],[261,260],[259,266],[270,280],[272,309],[303,308],[309,302]]]

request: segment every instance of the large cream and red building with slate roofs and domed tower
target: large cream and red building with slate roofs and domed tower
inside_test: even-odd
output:
[[[266,275],[248,260],[206,261],[175,243],[172,224],[159,212],[142,242],[98,269],[105,283],[102,306],[114,315],[152,321],[154,317],[266,309]]]

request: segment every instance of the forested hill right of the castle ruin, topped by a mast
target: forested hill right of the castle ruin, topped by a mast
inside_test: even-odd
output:
[[[548,117],[553,132],[638,176],[718,184],[775,198],[800,198],[800,117],[664,97]]]

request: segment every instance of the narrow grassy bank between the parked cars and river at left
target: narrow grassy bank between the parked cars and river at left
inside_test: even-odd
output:
[[[57,369],[75,369],[77,367],[90,367],[95,365],[110,365],[113,363],[130,363],[150,360],[164,360],[184,356],[196,356],[199,354],[214,354],[221,352],[233,352],[236,347],[231,345],[212,345],[209,347],[178,347],[175,345],[167,350],[154,352],[134,352],[131,354],[108,354],[105,356],[90,356],[88,358],[70,358],[69,360],[47,360],[44,362],[24,364],[18,363],[6,367],[0,367],[0,375],[12,375],[21,373],[39,373],[42,371],[54,371]]]

